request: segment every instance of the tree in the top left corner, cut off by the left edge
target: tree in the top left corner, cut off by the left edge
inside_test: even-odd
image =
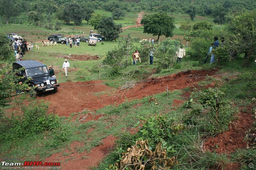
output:
[[[15,11],[17,10],[13,8],[15,2],[12,0],[0,0],[0,4],[0,15],[8,25],[10,18],[15,16]]]

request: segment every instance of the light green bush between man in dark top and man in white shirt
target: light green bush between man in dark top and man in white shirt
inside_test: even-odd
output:
[[[173,66],[176,59],[176,52],[179,50],[180,41],[167,38],[160,41],[156,48],[156,58],[159,67],[170,68]]]

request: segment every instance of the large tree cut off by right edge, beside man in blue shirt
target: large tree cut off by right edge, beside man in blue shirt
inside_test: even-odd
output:
[[[245,52],[244,58],[248,61],[256,51],[256,11],[236,11],[229,13],[227,30],[233,48]]]

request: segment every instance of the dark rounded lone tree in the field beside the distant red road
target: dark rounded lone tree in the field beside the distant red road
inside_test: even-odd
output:
[[[174,18],[164,13],[145,15],[141,20],[141,24],[144,26],[143,33],[158,36],[157,41],[159,41],[159,37],[161,35],[165,35],[165,37],[172,37],[172,31],[175,28]]]

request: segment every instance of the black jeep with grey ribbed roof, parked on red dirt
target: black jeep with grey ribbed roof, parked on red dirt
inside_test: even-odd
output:
[[[24,68],[17,72],[20,77],[19,82],[28,83],[31,87],[31,93],[36,97],[37,93],[44,93],[48,91],[57,92],[57,87],[60,86],[56,77],[50,76],[47,67],[34,60],[16,61],[12,64],[13,71]]]

